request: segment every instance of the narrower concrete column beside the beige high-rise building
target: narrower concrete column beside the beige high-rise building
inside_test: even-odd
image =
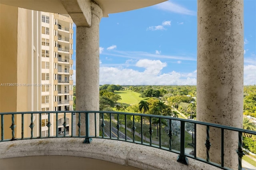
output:
[[[100,6],[91,2],[92,26],[76,28],[76,110],[99,110],[99,24]],[[99,118],[97,118],[97,125]],[[76,116],[78,123],[78,115]],[[81,114],[81,135],[85,134],[85,116]],[[98,128],[99,130],[99,128]],[[90,114],[90,135],[94,135],[94,114]]]

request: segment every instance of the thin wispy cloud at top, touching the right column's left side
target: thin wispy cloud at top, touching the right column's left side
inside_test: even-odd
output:
[[[155,7],[160,10],[165,10],[165,11],[174,12],[174,13],[178,13],[178,14],[196,16],[195,11],[188,10],[188,9],[184,8],[183,6],[174,4],[173,2],[170,2],[170,1],[157,4]]]

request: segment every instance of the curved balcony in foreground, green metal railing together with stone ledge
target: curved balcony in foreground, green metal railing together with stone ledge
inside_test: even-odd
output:
[[[8,164],[8,162],[18,159],[20,162],[30,162],[32,164],[40,164],[44,162],[42,160],[47,160],[54,158],[54,161],[58,162],[64,160],[74,159],[74,161],[80,162],[84,160],[89,162],[86,167],[92,166],[88,169],[100,169],[99,166],[102,165],[106,169],[228,169],[225,167],[224,162],[224,140],[220,144],[222,154],[220,164],[216,164],[210,161],[209,150],[210,150],[210,134],[209,128],[219,128],[221,130],[220,136],[224,136],[224,133],[228,131],[236,132],[238,135],[237,141],[237,153],[239,166],[238,169],[242,169],[242,133],[246,132],[248,134],[256,134],[255,131],[244,130],[241,128],[227,127],[222,125],[216,125],[212,123],[204,123],[199,121],[191,121],[186,119],[178,119],[174,117],[165,117],[158,115],[144,115],[136,113],[121,113],[121,112],[110,112],[110,111],[66,111],[64,112],[64,133],[60,136],[58,133],[58,128],[52,133],[52,128],[58,127],[58,121],[48,122],[48,136],[42,137],[41,134],[41,121],[39,125],[36,124],[35,117],[42,119],[42,114],[48,113],[48,120],[58,120],[58,116],[63,115],[63,111],[52,111],[52,112],[26,112],[26,113],[0,113],[1,115],[1,145],[0,145],[0,161],[3,167],[19,167],[19,164]],[[72,125],[69,127],[69,135],[66,135],[66,114],[74,113],[72,116]],[[128,120],[131,120],[131,127],[128,126]],[[54,118],[54,119],[52,119]],[[98,119],[99,118],[99,119]],[[146,130],[144,127],[144,118],[147,119]],[[25,122],[24,120],[30,119],[31,121]],[[80,127],[81,120],[84,119],[86,122],[85,135],[81,134],[82,129]],[[90,119],[99,120],[99,124],[89,125]],[[135,123],[135,119],[138,120],[139,124]],[[159,123],[159,140],[156,142],[152,140],[152,129],[153,129],[153,119],[158,119]],[[162,122],[166,121],[166,127],[169,127],[168,133],[162,132]],[[16,127],[14,123],[19,125]],[[172,143],[172,138],[177,136],[174,132],[172,124],[178,123],[180,138],[179,145],[177,149],[174,149],[174,143]],[[185,124],[192,123],[195,131],[194,136],[196,136],[196,127],[198,125],[206,127],[206,159],[200,158],[196,154],[196,148],[193,152],[186,152],[185,148]],[[7,124],[7,125],[6,125]],[[52,127],[53,126],[53,127]],[[137,126],[137,127],[136,127]],[[94,128],[95,127],[95,128]],[[122,127],[122,128],[121,128]],[[90,128],[94,128],[90,130]],[[136,128],[140,128],[141,133],[135,131]],[[24,136],[24,134],[25,135]],[[71,132],[71,134],[70,134]],[[131,132],[131,133],[128,133]],[[89,135],[90,133],[90,135]],[[147,133],[147,140],[144,140],[144,135]],[[10,136],[10,137],[6,137]],[[141,140],[136,140],[140,136]],[[169,138],[168,143],[161,142],[164,137]],[[32,139],[32,140],[25,140]],[[196,139],[196,138],[195,138]],[[223,138],[224,139],[224,138]],[[196,146],[196,140],[195,146]],[[87,144],[86,144],[87,143]],[[212,151],[214,152],[214,151]],[[56,156],[58,155],[58,156]],[[26,156],[26,157],[24,157]],[[27,157],[33,156],[33,157]],[[36,159],[35,161],[31,159]],[[72,156],[73,158],[71,158]],[[93,158],[93,160],[91,160]],[[91,160],[91,164],[90,164]],[[33,163],[34,162],[34,163]],[[82,161],[83,162],[83,161]],[[31,166],[30,163],[22,164],[22,166]],[[112,163],[109,165],[108,163]],[[60,164],[52,163],[53,166],[48,167],[65,167],[71,166],[66,165],[61,166]],[[52,165],[51,164],[51,165]],[[71,169],[76,169],[75,164],[72,164]],[[82,165],[77,165],[82,166]],[[18,169],[18,168],[17,168]],[[26,168],[25,168],[26,169]],[[79,169],[79,168],[77,168]],[[102,168],[101,168],[102,169]]]

